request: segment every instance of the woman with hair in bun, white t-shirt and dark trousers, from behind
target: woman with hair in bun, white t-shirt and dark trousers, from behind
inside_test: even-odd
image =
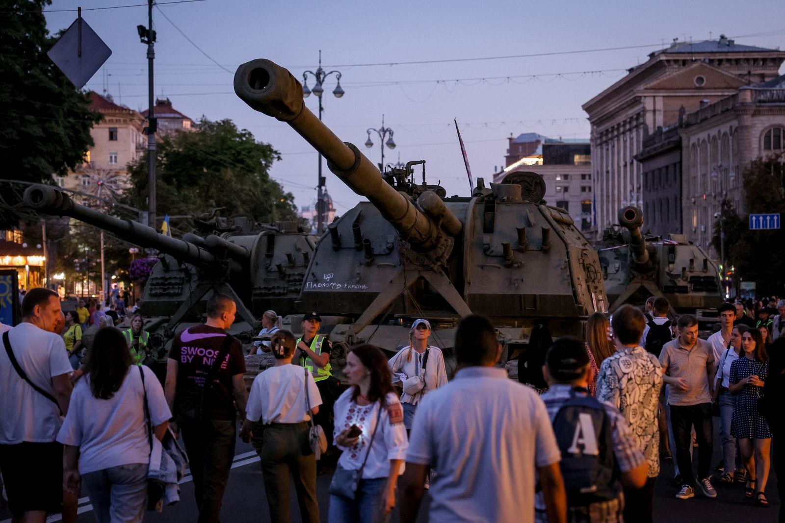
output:
[[[318,523],[316,456],[304,449],[310,450],[309,420],[319,412],[322,397],[311,372],[291,364],[295,347],[297,340],[291,332],[273,334],[270,350],[276,365],[261,372],[251,385],[240,438],[250,441],[251,429],[261,419],[265,444],[259,457],[271,521],[290,521],[289,492],[294,478],[302,521]]]

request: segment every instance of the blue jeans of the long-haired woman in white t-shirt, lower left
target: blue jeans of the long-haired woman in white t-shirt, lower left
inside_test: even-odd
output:
[[[147,463],[130,463],[82,474],[97,523],[137,523],[147,500]]]

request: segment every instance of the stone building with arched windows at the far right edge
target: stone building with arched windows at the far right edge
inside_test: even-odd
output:
[[[679,134],[682,230],[708,250],[724,199],[747,213],[741,175],[750,162],[785,151],[785,76],[705,104],[687,114]]]

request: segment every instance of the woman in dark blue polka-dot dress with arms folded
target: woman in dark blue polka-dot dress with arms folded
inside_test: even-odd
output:
[[[755,496],[760,507],[769,507],[766,481],[771,463],[772,431],[761,415],[758,400],[763,396],[763,385],[769,374],[769,354],[757,329],[744,332],[741,339],[743,356],[731,364],[730,390],[736,396],[731,434],[739,441],[742,462],[747,469],[747,488],[744,496]]]

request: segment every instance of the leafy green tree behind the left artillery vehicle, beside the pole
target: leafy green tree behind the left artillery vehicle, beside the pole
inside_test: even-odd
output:
[[[159,216],[199,215],[225,208],[225,216],[247,214],[259,222],[298,220],[294,196],[271,180],[268,169],[278,151],[254,140],[231,120],[202,118],[197,130],[162,136],[155,164],[155,200]],[[148,159],[130,165],[133,188],[129,205],[145,209]]]

